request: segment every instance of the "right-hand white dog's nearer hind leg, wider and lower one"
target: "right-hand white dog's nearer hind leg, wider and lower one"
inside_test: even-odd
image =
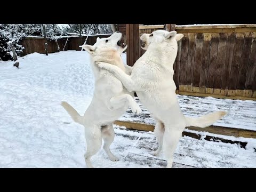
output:
[[[172,129],[172,130],[170,130]],[[167,127],[165,125],[164,137],[163,137],[163,151],[167,160],[167,168],[172,167],[174,151],[182,136],[183,129],[177,129],[174,127]]]

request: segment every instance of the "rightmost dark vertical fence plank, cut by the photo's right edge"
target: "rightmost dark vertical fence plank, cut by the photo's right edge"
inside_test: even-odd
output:
[[[253,81],[256,73],[256,33],[253,33],[253,41],[251,45],[251,52],[249,55],[249,62],[246,72],[245,90],[253,90]]]

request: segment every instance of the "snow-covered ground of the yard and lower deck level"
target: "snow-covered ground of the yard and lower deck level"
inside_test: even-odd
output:
[[[94,82],[89,55],[85,51],[48,56],[33,53],[19,60],[20,69],[13,67],[12,61],[0,61],[0,167],[86,167],[84,128],[71,121],[60,102],[68,101],[80,114],[89,106]],[[101,149],[92,157],[95,167],[157,167],[137,162],[139,155],[148,161],[152,158],[150,146],[140,143],[149,138],[155,145],[152,133],[122,129],[116,133],[111,148],[120,161],[111,162]],[[209,155],[212,149],[215,154]],[[223,159],[227,155],[228,162]],[[245,150],[230,143],[183,137],[174,162],[198,167],[256,167],[256,153],[252,147]]]

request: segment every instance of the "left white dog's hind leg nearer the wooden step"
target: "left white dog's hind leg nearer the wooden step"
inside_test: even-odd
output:
[[[113,125],[108,125],[107,127],[103,127],[101,130],[101,134],[102,134],[102,139],[104,140],[103,149],[106,151],[106,154],[108,155],[109,159],[111,161],[118,161],[119,159],[113,153],[111,153],[109,149],[115,137]]]

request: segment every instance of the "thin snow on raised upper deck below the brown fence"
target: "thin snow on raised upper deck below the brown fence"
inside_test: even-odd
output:
[[[213,111],[225,110],[228,114],[213,125],[256,131],[256,101],[187,95],[177,95],[177,98],[181,111],[186,116],[198,117]],[[150,116],[149,111],[141,105],[139,100],[137,102],[143,114],[136,116],[131,114],[131,111],[126,111],[121,120],[155,125],[156,122]]]

